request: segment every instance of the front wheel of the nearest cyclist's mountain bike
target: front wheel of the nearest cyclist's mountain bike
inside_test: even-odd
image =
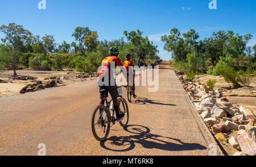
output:
[[[128,108],[127,102],[125,98],[121,98],[121,97],[119,97],[117,101],[120,108],[120,114],[125,114],[125,118],[123,118],[123,120],[119,123],[122,127],[126,127],[129,122],[129,108]]]

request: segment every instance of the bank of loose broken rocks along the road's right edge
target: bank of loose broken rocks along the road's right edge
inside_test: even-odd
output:
[[[256,156],[256,117],[249,108],[233,105],[221,90],[189,82],[175,70],[196,110],[228,155]]]

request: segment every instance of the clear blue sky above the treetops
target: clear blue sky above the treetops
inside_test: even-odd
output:
[[[181,32],[194,28],[200,39],[220,30],[250,33],[248,45],[256,44],[256,1],[216,1],[217,9],[210,10],[209,0],[46,0],[46,9],[39,10],[39,0],[0,0],[0,25],[22,24],[34,35],[54,35],[57,43],[74,41],[78,26],[97,31],[100,40],[119,39],[124,30],[139,28],[158,45],[163,60],[171,56],[163,51],[160,36],[173,27]]]

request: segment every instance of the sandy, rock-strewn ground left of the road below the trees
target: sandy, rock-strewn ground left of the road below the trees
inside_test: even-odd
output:
[[[10,72],[9,72],[10,73]],[[40,72],[40,71],[20,71],[22,76],[11,76],[6,72],[0,79],[0,97],[9,94],[24,94],[32,91],[44,90],[49,87],[64,86],[75,82],[94,80],[97,73],[85,74],[72,72]],[[26,76],[26,74],[28,76]],[[30,76],[32,74],[33,76]],[[61,75],[62,74],[62,75]],[[56,76],[52,76],[56,75]],[[3,84],[2,84],[3,83]]]

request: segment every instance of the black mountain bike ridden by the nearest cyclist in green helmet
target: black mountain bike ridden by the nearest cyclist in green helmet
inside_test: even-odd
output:
[[[119,124],[122,127],[126,127],[129,121],[129,108],[125,98],[122,97],[122,86],[118,86],[118,105],[119,105],[119,114],[125,114],[125,118],[122,119]],[[106,92],[106,90],[101,90],[102,92]],[[114,106],[113,100],[111,99],[108,102],[106,98],[107,94],[104,95],[104,100],[106,101],[106,106],[98,105],[92,115],[92,132],[93,136],[98,141],[104,141],[109,135],[110,127],[112,127],[116,119],[114,117]],[[112,126],[111,126],[112,123]]]

